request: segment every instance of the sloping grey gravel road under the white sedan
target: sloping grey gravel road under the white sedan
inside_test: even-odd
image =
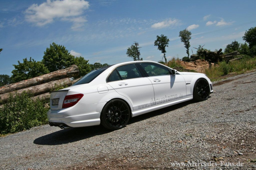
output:
[[[0,168],[256,169],[255,85],[256,72],[232,76],[204,102],[146,113],[117,131],[43,125],[0,137]]]

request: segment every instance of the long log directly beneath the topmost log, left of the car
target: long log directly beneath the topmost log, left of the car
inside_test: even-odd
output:
[[[33,94],[33,96],[37,96],[37,95],[40,95],[40,94],[50,92],[51,90],[56,88],[56,86],[57,87],[58,86],[61,86],[61,87],[70,86],[70,85],[72,85],[72,83],[74,83],[73,78],[64,78],[64,79],[61,79],[61,80],[55,80],[55,81],[47,82],[47,83],[40,84],[40,85],[37,85],[37,86],[32,86],[32,87],[20,89],[20,90],[17,90],[17,91],[5,93],[5,94],[0,94],[0,98],[1,98],[2,102],[6,102],[8,100],[8,98],[10,97],[10,95],[16,95],[16,94],[18,95],[18,94],[21,94],[24,91]]]

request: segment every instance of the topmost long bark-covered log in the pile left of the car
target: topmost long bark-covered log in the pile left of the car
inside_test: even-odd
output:
[[[79,74],[78,66],[72,65],[68,68],[50,72],[42,76],[37,76],[34,78],[30,78],[28,80],[23,80],[14,84],[8,84],[6,86],[2,86],[0,87],[0,94],[5,94],[15,90],[36,86],[39,84],[44,84],[46,82],[50,82],[54,80],[60,80],[66,77],[76,77],[78,76],[78,74]]]

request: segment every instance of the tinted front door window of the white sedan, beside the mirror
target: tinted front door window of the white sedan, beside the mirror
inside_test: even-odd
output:
[[[148,76],[170,75],[168,68],[155,63],[140,63],[142,68],[148,73]]]

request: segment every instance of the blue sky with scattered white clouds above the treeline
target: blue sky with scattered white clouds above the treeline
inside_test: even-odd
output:
[[[224,49],[256,26],[255,0],[0,0],[0,74],[32,57],[41,61],[52,42],[89,63],[132,61],[137,41],[144,60],[160,61],[156,35],[169,39],[166,56],[182,58],[179,32],[189,29],[192,47]]]

